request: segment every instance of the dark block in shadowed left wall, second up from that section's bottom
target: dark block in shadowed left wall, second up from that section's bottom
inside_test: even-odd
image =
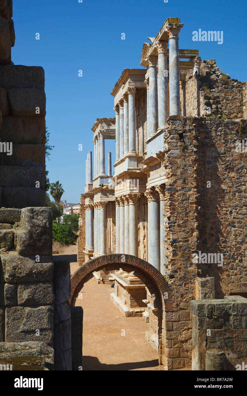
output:
[[[0,166],[2,187],[45,187],[45,168],[42,166]]]

